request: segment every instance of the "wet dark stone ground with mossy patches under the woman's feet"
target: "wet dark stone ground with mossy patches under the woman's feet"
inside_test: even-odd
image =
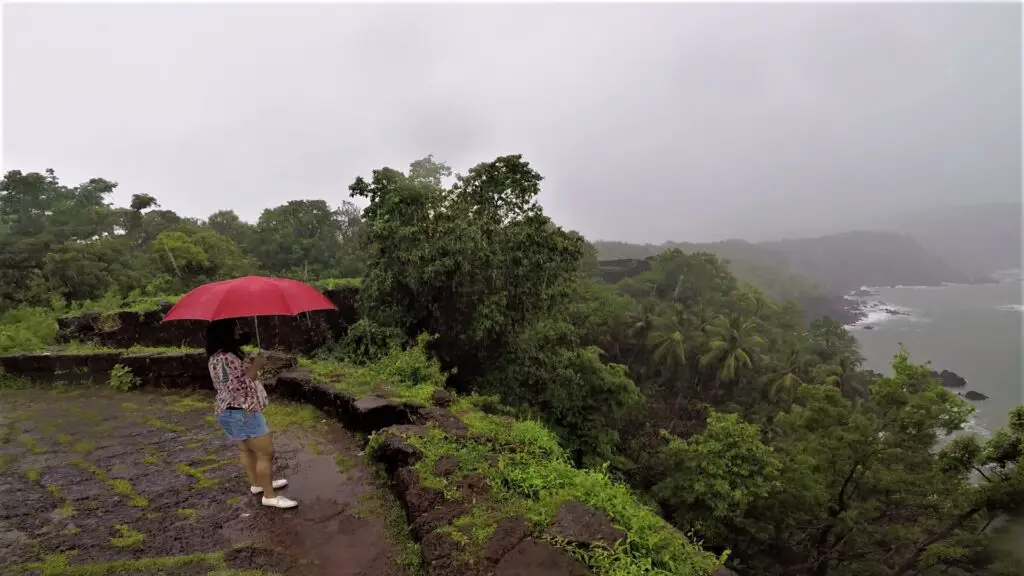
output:
[[[89,387],[0,390],[0,574],[411,574],[401,512],[358,444],[272,404],[274,478],[249,492],[211,398]],[[413,560],[407,560],[413,559]]]

